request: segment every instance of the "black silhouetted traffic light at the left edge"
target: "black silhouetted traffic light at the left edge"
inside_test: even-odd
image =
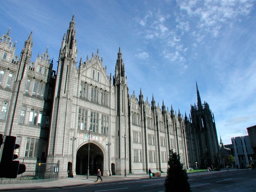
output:
[[[19,164],[19,161],[13,161],[18,157],[18,155],[14,154],[14,150],[19,147],[15,142],[16,137],[6,136],[0,164],[0,178],[17,178],[18,174],[26,171],[26,165]]]

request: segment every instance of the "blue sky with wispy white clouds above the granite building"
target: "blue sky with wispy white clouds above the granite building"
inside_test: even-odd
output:
[[[256,2],[208,1],[17,1],[3,0],[0,33],[11,27],[20,55],[33,30],[33,57],[57,58],[75,14],[78,60],[92,52],[114,75],[121,47],[130,94],[181,114],[196,103],[198,83],[224,144],[256,125]]]

